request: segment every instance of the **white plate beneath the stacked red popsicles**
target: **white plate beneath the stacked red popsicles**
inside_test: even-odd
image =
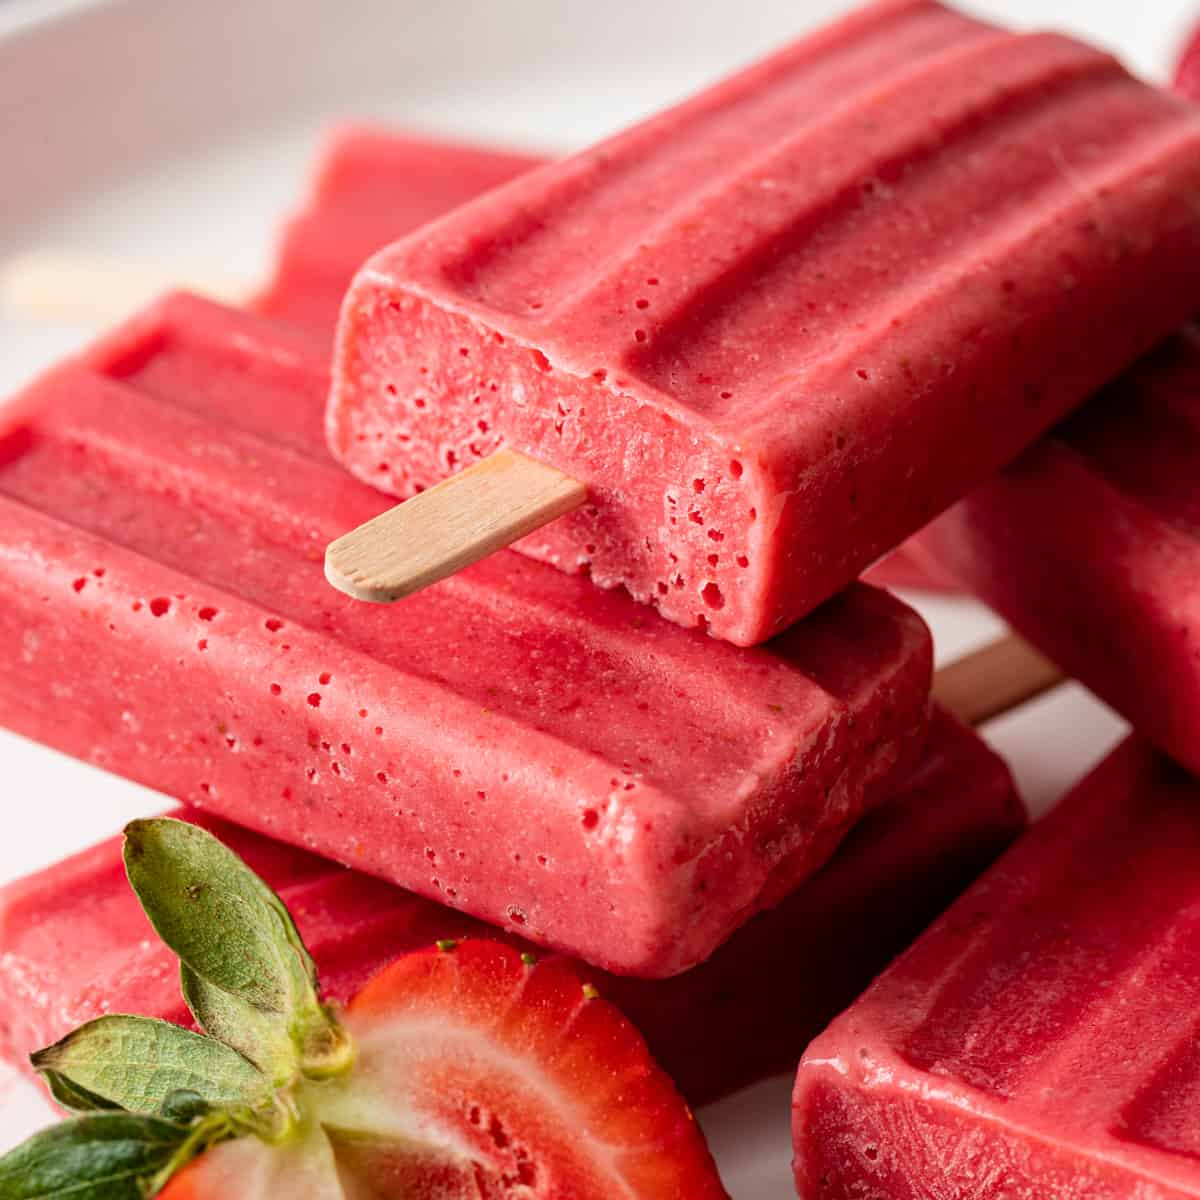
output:
[[[0,257],[73,247],[260,271],[317,131],[344,115],[568,149],[659,107],[851,7],[846,0],[4,0]],[[990,0],[971,8],[1054,25],[1164,74],[1193,0]],[[1151,17],[1151,11],[1153,16]],[[7,392],[86,330],[0,319]],[[967,602],[919,606],[944,660],[998,625]],[[989,738],[1043,811],[1123,726],[1068,688]],[[0,733],[0,881],[164,805]],[[701,1114],[736,1200],[792,1194],[788,1081]],[[0,1079],[0,1148],[49,1118]]]

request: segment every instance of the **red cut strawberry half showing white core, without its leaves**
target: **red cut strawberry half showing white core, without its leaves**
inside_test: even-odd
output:
[[[218,1146],[164,1200],[719,1200],[691,1112],[576,970],[485,940],[406,955],[342,1015],[344,1076],[282,1146]]]

